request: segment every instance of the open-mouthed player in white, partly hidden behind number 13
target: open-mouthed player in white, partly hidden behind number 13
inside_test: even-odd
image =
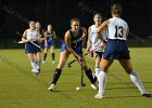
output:
[[[96,13],[93,16],[93,22],[94,24],[91,25],[88,29],[88,42],[87,42],[87,52],[98,48],[94,52],[92,52],[92,54],[96,57],[96,77],[98,78],[99,73],[100,73],[100,60],[102,58],[102,53],[104,50],[104,42],[102,42],[99,37],[98,37],[98,27],[101,25],[102,23],[102,15],[100,13]],[[104,40],[106,40],[107,37],[107,30],[104,30],[102,32],[102,36],[104,38]]]

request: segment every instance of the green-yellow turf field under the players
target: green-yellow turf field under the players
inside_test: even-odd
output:
[[[152,92],[152,49],[129,50],[135,70],[147,90]],[[0,108],[152,108],[152,98],[140,95],[116,60],[109,70],[103,99],[93,98],[98,91],[90,87],[86,76],[87,86],[75,91],[76,86],[80,86],[80,66],[77,63],[72,68],[65,65],[55,92],[48,91],[60,50],[55,50],[54,65],[49,54],[47,63],[41,65],[41,75],[35,77],[24,50],[0,50]],[[72,59],[73,56],[68,62]],[[87,62],[94,70],[93,58],[87,57]]]

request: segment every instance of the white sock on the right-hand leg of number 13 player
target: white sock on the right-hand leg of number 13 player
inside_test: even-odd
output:
[[[144,89],[144,86],[143,86],[143,84],[142,84],[139,76],[138,76],[138,73],[135,70],[132,70],[130,72],[130,79],[136,84],[136,86],[139,89],[140,92],[145,91],[145,89]]]

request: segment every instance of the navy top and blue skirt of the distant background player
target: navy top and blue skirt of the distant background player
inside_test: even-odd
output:
[[[48,48],[54,46],[53,37],[55,37],[55,36],[54,36],[53,31],[51,31],[51,32],[46,31],[46,35],[47,35]],[[45,48],[46,48],[46,46],[47,46],[47,44],[45,43]]]

